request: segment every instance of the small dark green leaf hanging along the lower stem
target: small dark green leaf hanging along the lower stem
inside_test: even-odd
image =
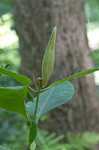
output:
[[[31,145],[37,136],[37,125],[31,120],[30,121],[30,131],[29,131],[29,144]]]

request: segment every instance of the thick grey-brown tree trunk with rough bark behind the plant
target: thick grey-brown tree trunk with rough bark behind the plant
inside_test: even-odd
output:
[[[14,4],[21,73],[31,78],[41,74],[41,59],[54,25],[57,26],[56,66],[51,81],[93,67],[83,0],[14,0]],[[93,75],[72,83],[75,96],[50,112],[44,129],[58,134],[99,129],[99,103]]]

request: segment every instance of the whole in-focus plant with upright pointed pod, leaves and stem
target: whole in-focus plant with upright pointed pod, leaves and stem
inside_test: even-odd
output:
[[[45,50],[42,60],[42,76],[36,79],[36,89],[31,87],[32,81],[28,77],[0,68],[0,75],[7,75],[20,83],[20,86],[0,87],[0,108],[20,114],[26,119],[31,150],[36,149],[37,125],[40,117],[51,109],[66,103],[74,95],[74,87],[69,80],[83,77],[99,70],[98,67],[85,70],[47,86],[54,70],[55,41],[56,27],[52,31]],[[28,102],[26,102],[26,97],[29,99]],[[0,150],[3,149],[6,150],[6,148],[1,148]]]

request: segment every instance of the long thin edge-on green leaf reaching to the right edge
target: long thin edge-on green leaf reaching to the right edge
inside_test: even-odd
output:
[[[49,88],[54,87],[54,86],[56,86],[56,85],[62,84],[62,83],[64,83],[64,82],[66,82],[66,81],[69,81],[69,80],[72,80],[72,79],[76,79],[76,78],[84,77],[84,76],[89,75],[89,74],[91,74],[91,73],[93,73],[93,72],[95,72],[95,71],[99,71],[99,67],[93,68],[93,69],[88,69],[88,70],[85,70],[85,71],[83,71],[83,72],[78,72],[78,73],[76,73],[76,74],[74,74],[74,75],[71,75],[71,76],[69,76],[69,77],[67,77],[67,78],[65,78],[65,79],[63,79],[63,80],[56,81],[56,82],[52,83],[52,84],[51,84],[49,87],[47,87],[46,89],[42,89],[41,92],[43,92],[43,90],[44,90],[44,91],[45,91],[45,90],[48,90]]]

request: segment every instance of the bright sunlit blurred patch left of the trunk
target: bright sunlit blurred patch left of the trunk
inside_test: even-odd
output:
[[[10,68],[17,70],[20,64],[18,53],[18,39],[12,27],[14,25],[11,14],[0,18],[0,65],[10,64]]]

